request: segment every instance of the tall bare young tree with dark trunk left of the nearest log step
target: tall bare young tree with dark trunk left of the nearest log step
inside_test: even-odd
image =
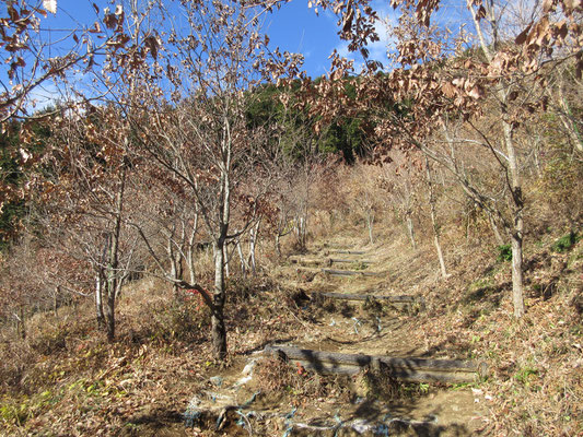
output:
[[[196,203],[193,210],[213,247],[212,293],[207,295],[198,283],[171,274],[155,248],[148,245],[149,236],[135,225],[161,271],[168,273],[166,279],[197,290],[205,298],[211,310],[214,355],[223,359],[226,245],[257,223],[254,211],[260,193],[244,188],[261,168],[261,149],[269,139],[265,127],[247,123],[247,108],[254,87],[266,74],[278,73],[276,64],[294,69],[299,59],[285,54],[268,59],[267,38],[260,35],[258,21],[265,8],[234,1],[171,3],[167,8],[163,12],[167,39],[159,36],[149,42],[152,63],[127,64],[139,104],[123,107],[139,145],[133,153],[176,178],[188,190],[186,198]],[[173,26],[176,14],[188,25]]]

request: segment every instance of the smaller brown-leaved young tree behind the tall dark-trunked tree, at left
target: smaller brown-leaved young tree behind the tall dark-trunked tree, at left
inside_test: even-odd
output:
[[[128,123],[113,107],[84,118],[54,120],[53,135],[31,174],[39,226],[57,252],[83,260],[96,277],[97,320],[105,300],[107,338],[115,338],[115,306],[131,269],[136,237],[125,226],[132,172]]]

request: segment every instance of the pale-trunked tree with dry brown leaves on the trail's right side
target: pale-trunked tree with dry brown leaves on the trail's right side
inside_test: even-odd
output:
[[[547,102],[543,91],[553,67],[574,59],[574,70],[581,75],[582,28],[578,24],[581,4],[570,1],[548,1],[541,7],[538,2],[528,3],[530,10],[521,13],[524,17],[521,24],[514,16],[520,11],[512,2],[468,1],[468,15],[460,15],[468,20],[459,23],[459,32],[453,39],[445,29],[431,26],[440,2],[404,0],[393,4],[400,12],[399,25],[394,28],[397,38],[396,50],[392,52],[395,69],[386,75],[369,74],[359,81],[357,102],[369,110],[375,108],[376,132],[386,145],[419,150],[442,165],[492,222],[506,229],[513,253],[514,315],[521,317],[524,314],[525,205],[521,176],[523,152],[516,132],[524,120],[532,119],[532,114],[545,110]],[[364,12],[366,19],[373,16],[371,11]],[[351,15],[350,8],[343,16],[345,31],[355,37],[358,25],[366,19],[362,14]],[[464,31],[466,24],[474,24],[473,35]],[[468,49],[469,40],[475,40],[476,46]],[[335,114],[329,97],[338,99],[342,86],[338,79],[349,71],[350,63],[335,59],[334,67],[331,81],[320,85],[320,95],[310,101],[314,113],[325,115],[323,121]],[[368,72],[374,73],[378,63],[369,62],[368,67]],[[493,115],[490,120],[487,119],[489,114]],[[492,192],[487,186],[476,184],[455,154],[435,147],[433,134],[439,131],[440,123],[445,125],[447,144],[473,144],[489,154],[488,161],[481,163],[495,164],[501,190]],[[464,131],[469,134],[463,139],[452,137],[451,127],[456,123],[463,123]]]

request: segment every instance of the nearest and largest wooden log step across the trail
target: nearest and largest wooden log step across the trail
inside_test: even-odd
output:
[[[320,352],[291,346],[271,346],[265,354],[301,364],[318,374],[358,374],[365,367],[409,382],[471,382],[488,373],[486,363],[459,359],[396,358],[363,354]]]

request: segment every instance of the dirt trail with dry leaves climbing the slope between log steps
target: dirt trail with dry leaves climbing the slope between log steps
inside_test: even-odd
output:
[[[360,269],[378,275],[333,276],[324,273],[320,267],[302,267],[298,260],[287,265],[280,275],[288,277],[288,285],[304,296],[299,306],[301,322],[305,329],[279,345],[349,354],[458,358],[454,352],[430,350],[419,340],[419,335],[411,335],[411,320],[415,317],[429,317],[415,305],[371,305],[317,299],[315,296],[318,292],[404,294],[404,290],[392,290],[389,286],[390,272],[383,269],[384,265],[390,265],[386,255],[383,258],[371,249],[362,250],[362,255],[335,252],[339,249],[360,251],[362,248],[345,243],[343,246],[316,248],[306,253],[305,258],[310,259],[312,264],[315,259],[323,260],[323,264],[326,264],[331,255],[335,259],[353,261],[338,263],[338,269]],[[359,259],[371,263],[360,263]],[[337,265],[334,264],[334,268]],[[487,412],[482,405],[486,401],[481,390],[471,388],[470,385],[453,388],[418,383],[401,385],[395,389],[392,388],[394,382],[382,378],[343,377],[345,379],[339,379],[337,383],[349,387],[351,397],[328,395],[308,402],[304,400],[298,405],[293,402],[293,395],[278,398],[259,393],[257,377],[252,369],[257,359],[258,356],[249,356],[247,361],[235,366],[230,375],[215,378],[215,382],[220,380],[220,387],[209,383],[211,394],[207,394],[206,400],[195,399],[191,405],[195,415],[200,415],[206,409],[209,416],[207,422],[218,423],[222,420],[222,430],[226,435],[245,429],[246,433],[241,435],[284,437],[464,436],[477,434],[485,424]],[[396,392],[390,393],[390,390]],[[229,411],[234,412],[231,422],[228,421]],[[235,423],[238,425],[233,425]]]

